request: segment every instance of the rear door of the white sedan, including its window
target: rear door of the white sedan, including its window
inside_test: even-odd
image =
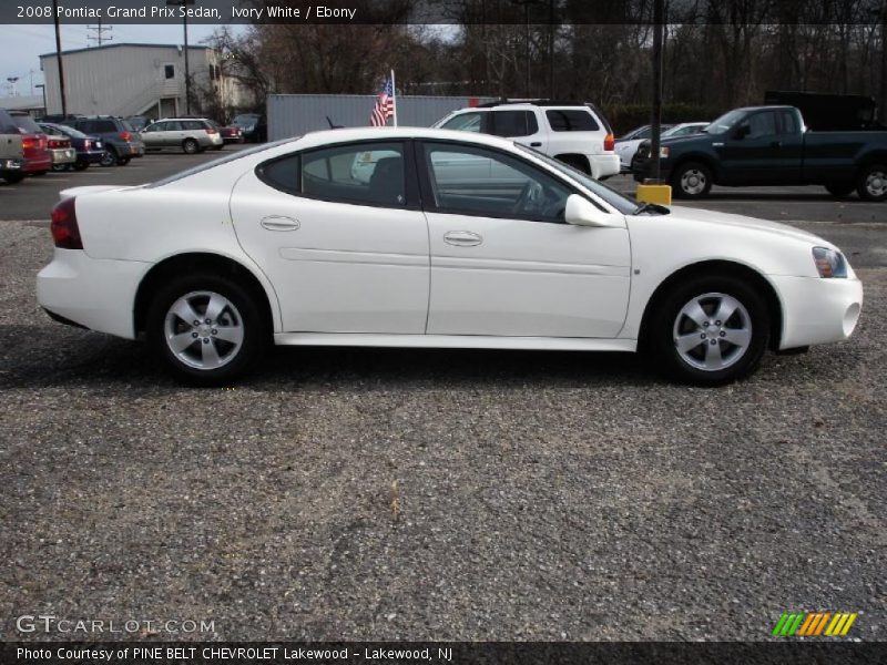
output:
[[[239,178],[234,228],[274,285],[284,331],[425,332],[428,226],[412,164],[400,141],[364,141]]]

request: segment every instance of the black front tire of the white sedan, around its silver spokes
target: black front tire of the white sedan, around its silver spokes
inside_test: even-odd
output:
[[[730,306],[727,298],[741,307],[722,321],[715,315],[722,304]],[[684,314],[685,306],[694,301],[706,315],[700,317],[705,319],[701,323]],[[644,350],[667,378],[696,386],[722,386],[748,375],[761,362],[769,337],[769,313],[764,298],[747,280],[701,275],[667,289],[655,304],[643,334]],[[696,335],[700,341],[693,345]],[[742,346],[731,341],[744,337],[747,341]],[[681,351],[679,339],[693,346]],[[718,358],[721,368],[715,368]],[[711,368],[702,367],[707,362]]]

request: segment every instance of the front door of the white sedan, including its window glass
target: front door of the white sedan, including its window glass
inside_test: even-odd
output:
[[[489,161],[489,176],[441,165]],[[419,144],[431,250],[429,335],[614,337],[629,300],[628,229],[563,222],[570,185],[523,158]]]

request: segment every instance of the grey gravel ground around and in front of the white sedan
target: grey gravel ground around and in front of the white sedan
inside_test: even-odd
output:
[[[883,264],[852,341],[716,390],[621,355],[369,349],[281,349],[198,390],[39,310],[45,226],[0,225],[3,635],[54,614],[763,640],[828,610],[887,640]]]

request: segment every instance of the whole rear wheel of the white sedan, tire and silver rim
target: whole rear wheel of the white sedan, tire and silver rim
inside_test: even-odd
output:
[[[255,367],[267,337],[255,297],[215,275],[174,279],[147,314],[151,346],[176,376],[200,385],[230,381]]]

